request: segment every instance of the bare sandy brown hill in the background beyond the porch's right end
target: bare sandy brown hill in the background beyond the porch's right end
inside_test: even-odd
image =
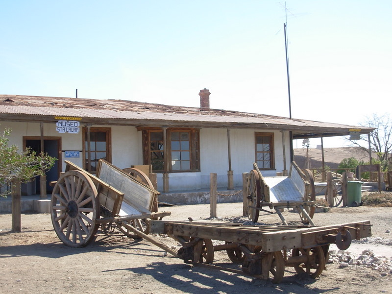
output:
[[[324,162],[331,169],[337,169],[341,161],[349,157],[369,162],[368,152],[360,147],[324,148]],[[321,149],[309,148],[309,158],[312,169],[322,167]],[[376,154],[373,154],[372,158],[377,158]],[[301,169],[305,168],[305,160],[306,148],[294,148],[294,161]]]

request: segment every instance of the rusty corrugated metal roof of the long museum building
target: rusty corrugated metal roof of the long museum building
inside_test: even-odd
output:
[[[127,100],[97,100],[81,98],[36,97],[18,95],[0,95],[0,114],[18,114],[29,116],[68,116],[99,119],[121,119],[130,121],[168,121],[195,123],[236,123],[264,124],[288,128],[364,128],[338,123],[323,123],[307,120],[289,119],[255,113],[211,109],[200,111],[200,108],[170,106]],[[0,115],[1,117],[1,115]]]

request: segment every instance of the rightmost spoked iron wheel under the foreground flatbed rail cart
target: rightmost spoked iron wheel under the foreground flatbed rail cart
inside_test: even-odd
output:
[[[325,254],[321,246],[312,248],[294,248],[294,256],[306,256],[307,261],[300,264],[294,264],[294,269],[298,274],[306,273],[309,277],[317,278],[325,268]]]

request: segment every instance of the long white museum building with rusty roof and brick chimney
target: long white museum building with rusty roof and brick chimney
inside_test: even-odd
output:
[[[104,158],[119,168],[152,165],[160,192],[208,188],[211,172],[217,173],[219,187],[242,187],[242,173],[253,162],[266,176],[287,173],[293,139],[373,130],[210,109],[209,90],[200,90],[199,96],[200,108],[0,95],[0,128],[11,128],[10,144],[58,158],[47,173],[48,183],[64,171],[65,160],[94,173]]]

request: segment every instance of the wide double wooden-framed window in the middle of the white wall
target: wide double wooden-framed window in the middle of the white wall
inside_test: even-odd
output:
[[[165,150],[164,131],[143,129],[143,161],[152,165],[153,172],[194,172],[200,170],[199,131],[167,129]],[[167,168],[165,169],[165,163]]]

